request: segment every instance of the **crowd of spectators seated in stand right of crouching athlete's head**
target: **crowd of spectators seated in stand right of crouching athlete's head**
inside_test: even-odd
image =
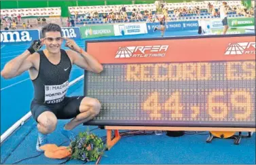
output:
[[[219,6],[211,3],[208,3],[208,9],[202,9],[200,6],[168,8],[162,5],[162,7],[160,7],[160,11],[162,12],[162,14],[164,14],[166,20],[170,20],[169,14],[172,14],[174,18],[179,19],[189,14],[194,16],[200,16],[200,14],[202,14],[202,11],[205,11],[204,14],[208,14],[210,16],[219,16]],[[242,16],[253,16],[254,10],[253,7],[251,7],[250,9],[246,9],[246,7],[244,7],[243,5],[231,5],[229,12]],[[150,9],[142,11],[139,8],[134,8],[132,10],[132,13],[127,13],[126,7],[124,5],[122,5],[118,10],[110,10],[110,12],[104,14],[98,14],[98,12],[95,10],[94,12],[86,12],[84,16],[79,17],[76,12],[75,20],[73,21],[84,22],[84,19],[101,19],[103,20],[103,22],[120,22],[122,20],[124,22],[130,22],[130,20],[145,20],[146,22],[158,22],[157,14],[155,12],[152,12]],[[72,20],[72,18],[70,18],[69,20]],[[72,24],[67,22],[67,26],[72,26]]]

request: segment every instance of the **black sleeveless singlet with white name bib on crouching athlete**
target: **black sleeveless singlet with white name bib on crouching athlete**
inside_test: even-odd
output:
[[[33,80],[33,101],[45,104],[61,103],[69,88],[71,60],[65,50],[60,50],[58,65],[52,64],[43,50],[38,51],[38,53],[40,55],[39,73],[37,78]]]

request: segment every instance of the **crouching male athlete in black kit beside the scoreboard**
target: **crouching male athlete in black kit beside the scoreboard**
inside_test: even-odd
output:
[[[72,39],[62,37],[57,24],[47,24],[41,32],[43,39],[33,41],[27,50],[7,62],[1,71],[5,79],[29,71],[35,90],[31,113],[39,130],[37,151],[42,151],[40,147],[48,143],[47,134],[55,130],[58,119],[73,118],[61,130],[69,141],[73,141],[75,134],[71,130],[92,120],[100,111],[100,103],[96,98],[66,96],[72,65],[94,73],[103,71],[103,66],[96,58],[79,48]],[[60,48],[63,40],[71,50]],[[45,50],[39,50],[42,45],[45,45]]]

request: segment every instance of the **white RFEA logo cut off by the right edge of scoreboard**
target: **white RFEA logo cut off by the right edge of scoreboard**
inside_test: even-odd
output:
[[[255,54],[255,42],[230,43],[225,55]]]

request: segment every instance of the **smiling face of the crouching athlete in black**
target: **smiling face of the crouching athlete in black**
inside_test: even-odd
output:
[[[50,31],[45,33],[45,39],[43,41],[46,49],[51,54],[58,54],[62,44],[62,37],[58,31]]]

